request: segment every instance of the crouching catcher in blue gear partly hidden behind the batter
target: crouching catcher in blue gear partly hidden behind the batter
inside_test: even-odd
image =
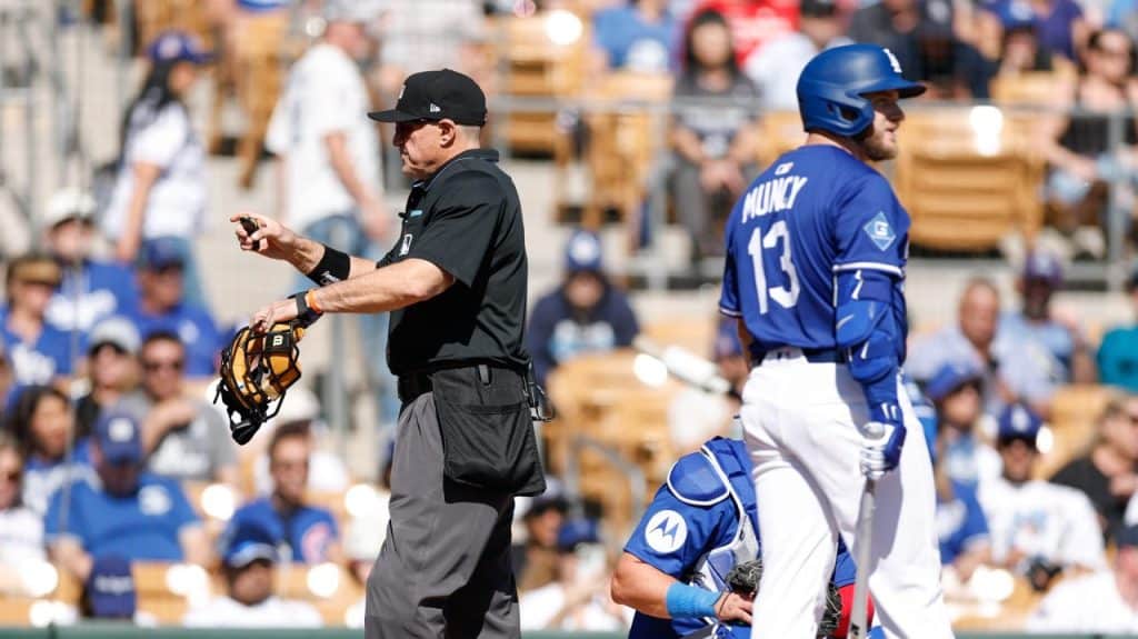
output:
[[[636,609],[629,639],[750,637],[762,574],[750,478],[734,439],[711,439],[671,467],[612,575],[612,599]],[[856,572],[839,542],[830,589],[818,594],[818,637],[846,637]]]

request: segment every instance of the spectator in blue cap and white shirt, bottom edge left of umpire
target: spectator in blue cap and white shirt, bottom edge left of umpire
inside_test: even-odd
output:
[[[320,628],[323,617],[311,604],[273,595],[275,540],[261,526],[239,526],[225,540],[222,558],[226,595],[192,607],[188,628]]]

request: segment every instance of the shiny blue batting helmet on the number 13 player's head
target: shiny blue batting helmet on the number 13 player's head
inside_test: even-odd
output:
[[[814,57],[798,78],[798,110],[806,131],[828,131],[846,138],[873,124],[866,93],[898,91],[901,98],[925,92],[901,76],[901,65],[889,49],[849,44]]]

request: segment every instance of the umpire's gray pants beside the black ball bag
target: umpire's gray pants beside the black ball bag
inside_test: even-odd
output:
[[[390,514],[368,579],[368,639],[521,637],[513,497],[444,482],[432,393],[399,415]]]

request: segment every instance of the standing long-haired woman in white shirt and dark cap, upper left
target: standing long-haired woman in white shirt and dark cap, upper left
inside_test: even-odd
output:
[[[143,240],[176,239],[185,260],[187,299],[207,306],[191,246],[206,225],[205,150],[183,100],[209,56],[179,31],[159,34],[147,56],[146,83],[124,117],[118,174],[102,211],[102,231],[124,263],[134,260]]]

